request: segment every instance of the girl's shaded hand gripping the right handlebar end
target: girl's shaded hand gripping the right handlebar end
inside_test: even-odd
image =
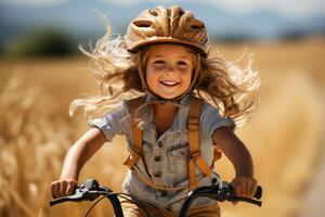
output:
[[[251,177],[236,177],[232,180],[231,184],[235,190],[236,196],[252,197],[257,190],[257,180]],[[236,202],[233,203],[237,204]]]

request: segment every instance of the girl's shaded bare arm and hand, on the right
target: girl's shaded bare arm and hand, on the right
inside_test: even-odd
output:
[[[245,144],[229,127],[217,129],[212,140],[234,165],[236,177],[232,184],[236,195],[251,197],[256,192],[257,181],[253,178],[252,159]]]

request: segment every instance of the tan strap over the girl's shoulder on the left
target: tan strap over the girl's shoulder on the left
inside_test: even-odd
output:
[[[135,115],[138,107],[142,103],[142,97],[131,99],[127,101],[129,107],[129,114],[131,116],[131,130],[133,137],[133,143],[131,146],[131,153],[129,157],[125,161],[123,165],[128,166],[130,169],[134,166],[136,161],[142,155],[142,130],[138,127],[138,123],[135,122]]]

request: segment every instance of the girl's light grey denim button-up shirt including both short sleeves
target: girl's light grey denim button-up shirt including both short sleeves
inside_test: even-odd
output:
[[[151,101],[150,95],[143,97],[144,102]],[[180,102],[180,108],[176,114],[171,127],[166,130],[159,138],[153,122],[153,110],[148,106],[141,113],[144,120],[143,130],[143,153],[146,168],[142,161],[135,164],[136,173],[152,179],[157,186],[173,188],[178,186],[188,184],[188,139],[187,139],[187,115],[190,111],[191,97],[184,97]],[[107,141],[112,141],[115,135],[125,135],[130,150],[132,143],[132,130],[130,129],[129,110],[126,101],[121,102],[117,108],[105,114],[102,118],[89,120],[91,127],[98,127],[104,133]],[[200,151],[202,156],[208,165],[212,165],[213,161],[213,142],[212,133],[220,127],[234,127],[231,118],[223,118],[219,114],[219,110],[208,103],[204,103],[200,110]],[[147,169],[147,170],[146,170]],[[150,176],[147,175],[147,171]],[[218,174],[213,173],[210,177],[205,177],[203,173],[196,168],[198,186],[211,184],[212,178],[218,178]],[[132,171],[128,170],[122,183],[123,192],[130,193],[139,200],[151,202],[158,207],[167,207],[170,210],[179,210],[188,190],[179,191],[159,191],[139,179]],[[208,197],[195,200],[193,206],[207,205],[212,203]]]

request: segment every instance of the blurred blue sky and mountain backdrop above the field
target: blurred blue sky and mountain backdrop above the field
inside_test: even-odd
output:
[[[288,34],[325,35],[325,0],[0,0],[0,43],[39,26],[58,26],[79,37],[114,33],[146,8],[180,4],[206,23],[210,36],[277,39]]]

